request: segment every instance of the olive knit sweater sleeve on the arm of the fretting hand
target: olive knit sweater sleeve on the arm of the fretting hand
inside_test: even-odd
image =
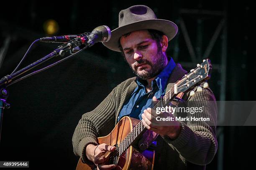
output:
[[[194,90],[196,90],[196,87]],[[205,121],[180,122],[181,131],[178,138],[171,140],[166,135],[163,138],[166,143],[173,145],[187,161],[197,165],[206,165],[212,161],[218,148],[216,139],[217,106],[215,97],[209,88],[203,89],[202,92],[195,92],[195,95],[192,97],[188,97],[188,94],[189,92],[186,93],[187,101],[203,101],[206,106],[199,116],[210,117],[210,123]],[[200,102],[191,102],[192,104],[190,105],[189,103],[188,107],[202,106],[196,104]],[[188,114],[190,115],[190,113]]]

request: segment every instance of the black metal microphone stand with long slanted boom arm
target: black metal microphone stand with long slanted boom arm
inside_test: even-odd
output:
[[[73,40],[58,46],[58,48],[56,48],[53,52],[51,52],[50,54],[46,55],[45,57],[33,62],[32,64],[18,70],[17,72],[14,72],[11,75],[6,75],[4,76],[2,79],[0,79],[0,141],[1,141],[1,132],[2,132],[2,123],[3,123],[3,110],[5,108],[10,108],[10,105],[6,102],[7,97],[9,95],[8,90],[6,89],[6,87],[8,85],[10,85],[10,83],[12,82],[12,80],[15,77],[18,77],[20,75],[22,75],[23,73],[27,72],[28,70],[31,70],[32,68],[42,64],[43,62],[46,62],[47,60],[56,57],[56,56],[64,56],[65,52],[68,52],[76,47],[79,47],[82,44],[85,44],[85,48],[89,47],[90,44],[87,43],[88,41],[88,37],[87,35],[83,36],[83,37],[77,37],[74,38]],[[75,54],[73,54],[75,55]],[[14,83],[14,82],[13,82]],[[12,83],[12,84],[13,84]]]

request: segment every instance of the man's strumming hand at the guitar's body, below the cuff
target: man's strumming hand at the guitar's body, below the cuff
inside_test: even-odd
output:
[[[104,154],[109,151],[113,152],[115,150],[115,146],[110,146],[105,143],[100,145],[92,145],[89,144],[86,147],[86,156],[87,158],[97,165],[97,169],[99,170],[111,170],[115,168],[115,165],[105,165],[105,156]]]

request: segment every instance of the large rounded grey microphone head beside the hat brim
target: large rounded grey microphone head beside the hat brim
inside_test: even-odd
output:
[[[110,40],[111,30],[106,25],[101,25],[92,30],[88,37],[87,44],[89,46],[94,45],[96,42],[107,42]]]

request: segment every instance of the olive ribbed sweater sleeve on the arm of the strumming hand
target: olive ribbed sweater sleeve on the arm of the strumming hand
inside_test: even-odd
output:
[[[116,87],[94,110],[84,113],[74,131],[74,154],[80,156],[84,163],[93,164],[85,153],[87,145],[97,145],[97,137],[110,133],[115,126],[115,90]]]

